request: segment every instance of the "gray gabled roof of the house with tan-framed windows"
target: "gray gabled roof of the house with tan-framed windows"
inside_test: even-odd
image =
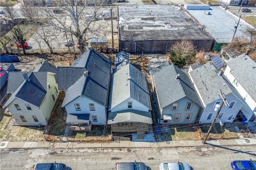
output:
[[[161,108],[164,108],[179,99],[188,97],[202,107],[198,95],[186,73],[175,65],[164,62],[151,70]],[[176,75],[180,74],[180,79]]]

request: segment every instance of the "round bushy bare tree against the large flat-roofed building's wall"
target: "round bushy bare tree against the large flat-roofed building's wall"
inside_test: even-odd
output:
[[[172,63],[179,68],[195,62],[195,46],[190,40],[181,40],[174,43],[169,51]]]

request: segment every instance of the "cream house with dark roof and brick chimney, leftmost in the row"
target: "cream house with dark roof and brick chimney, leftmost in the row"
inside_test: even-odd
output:
[[[21,126],[45,126],[57,101],[59,91],[56,66],[44,61],[33,72],[10,72],[7,107]]]

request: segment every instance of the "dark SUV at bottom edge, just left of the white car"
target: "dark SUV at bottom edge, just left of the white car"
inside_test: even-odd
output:
[[[115,170],[147,170],[143,162],[121,162],[116,163]]]

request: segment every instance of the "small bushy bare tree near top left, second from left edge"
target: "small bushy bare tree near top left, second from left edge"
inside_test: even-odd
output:
[[[38,10],[34,8],[33,4],[23,4],[20,9],[22,15],[28,20],[33,21],[35,18],[38,18]]]

